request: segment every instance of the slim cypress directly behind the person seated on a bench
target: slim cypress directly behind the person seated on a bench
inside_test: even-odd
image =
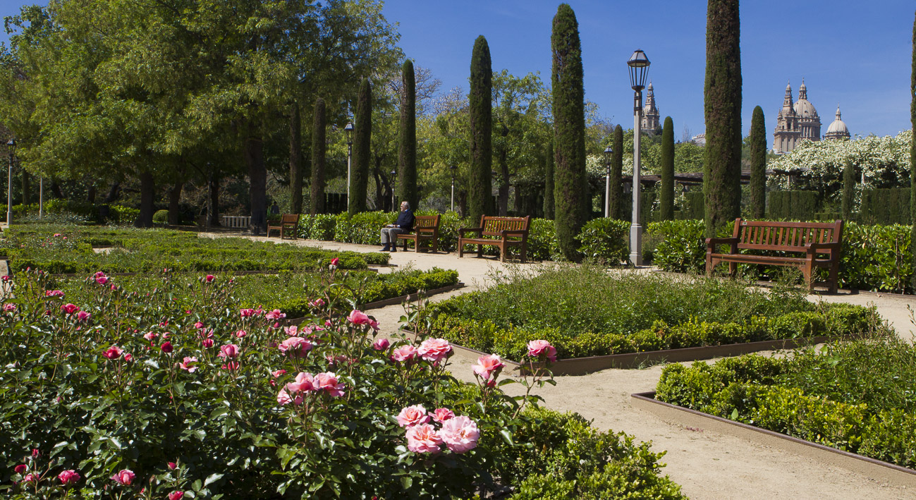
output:
[[[417,88],[413,62],[404,61],[401,68],[401,119],[398,135],[398,201],[409,201],[416,210],[417,194]],[[398,207],[393,207],[398,210]]]

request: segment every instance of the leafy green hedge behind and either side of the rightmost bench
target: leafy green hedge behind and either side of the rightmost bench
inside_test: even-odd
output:
[[[720,233],[731,235],[732,224]],[[703,221],[650,223],[649,234],[660,237],[653,263],[679,273],[703,273],[705,245]],[[840,253],[840,287],[873,291],[912,293],[913,266],[911,227],[907,225],[866,225],[846,222]],[[775,276],[779,268],[762,266],[763,274]],[[739,265],[742,274],[758,277],[758,266]],[[825,279],[825,271],[818,279]]]

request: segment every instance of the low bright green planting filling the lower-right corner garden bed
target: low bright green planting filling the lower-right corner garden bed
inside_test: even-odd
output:
[[[879,346],[877,353],[875,347]],[[837,354],[836,350],[841,351]],[[691,367],[669,364],[662,371],[656,398],[723,418],[775,430],[790,436],[850,451],[885,462],[916,468],[916,396],[912,368],[916,352],[899,341],[856,341],[833,344],[827,353],[812,349],[796,358],[777,359],[759,355],[726,358],[710,365]],[[889,369],[882,364],[889,356],[907,358],[909,370]],[[812,364],[805,357],[823,358]],[[792,382],[806,378],[863,378],[862,360],[873,361],[865,371],[866,384],[859,384],[841,397],[809,391]],[[877,361],[877,363],[874,363]],[[824,372],[823,374],[819,372]],[[890,406],[881,388],[872,386],[882,372],[909,393]],[[881,375],[878,375],[881,376]],[[803,386],[806,384],[802,384]],[[878,394],[875,394],[878,393]]]

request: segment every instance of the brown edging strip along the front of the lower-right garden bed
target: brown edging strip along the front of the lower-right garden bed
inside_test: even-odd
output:
[[[761,429],[742,422],[727,418],[716,417],[691,408],[683,408],[671,403],[659,401],[655,398],[655,391],[635,393],[630,395],[630,404],[634,408],[643,409],[656,416],[672,422],[702,426],[736,438],[750,440],[764,446],[771,446],[780,451],[788,451],[802,456],[810,457],[818,462],[842,467],[855,473],[863,474],[877,481],[889,484],[916,488],[916,471],[901,467],[900,465],[882,462],[878,459],[837,450],[823,444],[802,440],[769,429]]]

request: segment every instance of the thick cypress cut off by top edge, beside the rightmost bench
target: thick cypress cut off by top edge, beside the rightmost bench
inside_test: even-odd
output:
[[[706,236],[741,214],[741,23],[738,0],[709,0],[706,12]]]

